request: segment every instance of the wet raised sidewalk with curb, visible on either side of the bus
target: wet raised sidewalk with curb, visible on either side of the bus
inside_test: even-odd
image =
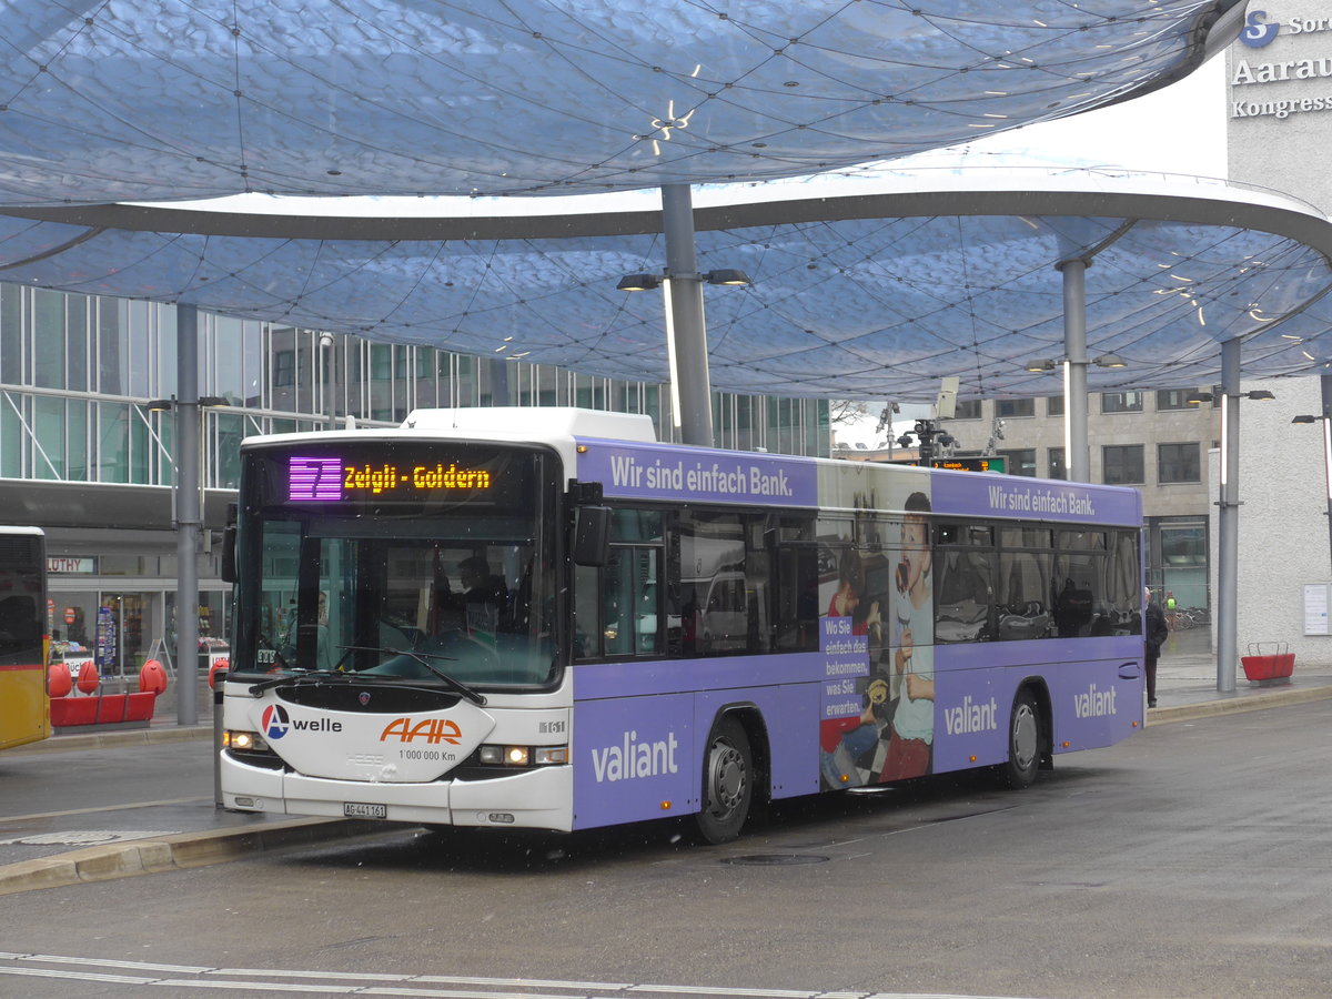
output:
[[[1217,691],[1207,629],[1172,633],[1147,725],[1332,699],[1332,663],[1296,663],[1288,683]],[[229,813],[214,805],[213,725],[172,715],[147,727],[75,730],[0,754],[0,895],[204,866],[385,831],[382,823]]]

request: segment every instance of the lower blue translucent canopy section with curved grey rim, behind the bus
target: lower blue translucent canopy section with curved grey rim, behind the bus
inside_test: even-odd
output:
[[[342,238],[256,233],[312,220],[218,214],[182,234],[165,232],[161,209],[24,214],[84,224],[0,218],[8,280],[667,380],[661,292],[615,288],[661,272],[655,212],[318,222]],[[1248,376],[1332,357],[1332,225],[1269,193],[1100,170],[695,214],[699,270],[754,280],[706,288],[717,389],[930,401],[940,377],[959,376],[963,397],[1058,394],[1058,376],[1027,362],[1063,356],[1056,265],[1068,258],[1090,261],[1090,353],[1128,361],[1094,366],[1094,389],[1211,384],[1217,342],[1232,337],[1247,338]]]

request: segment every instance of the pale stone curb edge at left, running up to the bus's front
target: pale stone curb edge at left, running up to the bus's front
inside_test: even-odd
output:
[[[208,867],[256,852],[313,846],[332,839],[350,839],[384,831],[382,822],[308,818],[270,822],[257,827],[178,832],[159,839],[93,846],[0,867],[0,895]]]

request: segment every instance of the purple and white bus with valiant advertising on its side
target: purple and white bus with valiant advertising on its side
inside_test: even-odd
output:
[[[418,410],[242,445],[229,809],[579,830],[992,767],[1143,721],[1134,489]]]

